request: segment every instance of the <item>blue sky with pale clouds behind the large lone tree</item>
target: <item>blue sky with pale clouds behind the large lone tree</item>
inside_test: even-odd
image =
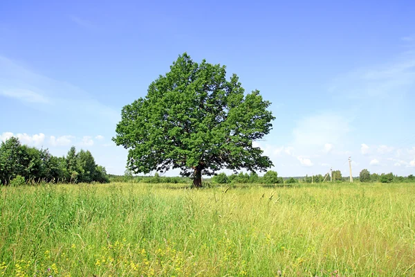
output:
[[[122,106],[187,51],[273,102],[280,176],[415,174],[415,2],[360,2],[0,1],[0,139],[122,174]]]

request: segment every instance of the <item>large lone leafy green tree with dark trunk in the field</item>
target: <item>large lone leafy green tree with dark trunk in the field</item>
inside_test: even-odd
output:
[[[170,71],[149,85],[147,96],[122,108],[113,141],[129,150],[135,172],[180,168],[201,186],[201,175],[221,168],[250,171],[273,165],[252,145],[270,132],[274,117],[258,90],[244,94],[225,66],[180,55]]]

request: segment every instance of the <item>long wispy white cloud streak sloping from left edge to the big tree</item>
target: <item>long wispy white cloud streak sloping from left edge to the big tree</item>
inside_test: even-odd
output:
[[[106,120],[111,124],[118,123],[120,119],[118,111],[103,105],[79,87],[35,73],[28,66],[2,56],[0,99],[1,97],[15,98],[25,103],[53,104],[30,107],[53,113],[55,116],[73,117],[73,108],[77,107],[77,116]]]

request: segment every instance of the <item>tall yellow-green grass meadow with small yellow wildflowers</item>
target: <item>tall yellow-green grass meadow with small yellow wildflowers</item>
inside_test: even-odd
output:
[[[414,276],[415,184],[3,187],[3,276]]]

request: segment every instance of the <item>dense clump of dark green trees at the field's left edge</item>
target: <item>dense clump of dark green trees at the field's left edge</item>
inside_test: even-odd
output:
[[[0,183],[24,184],[39,181],[52,183],[109,182],[103,166],[95,163],[91,152],[76,152],[71,147],[66,157],[55,157],[48,149],[21,145],[12,137],[1,143]]]

